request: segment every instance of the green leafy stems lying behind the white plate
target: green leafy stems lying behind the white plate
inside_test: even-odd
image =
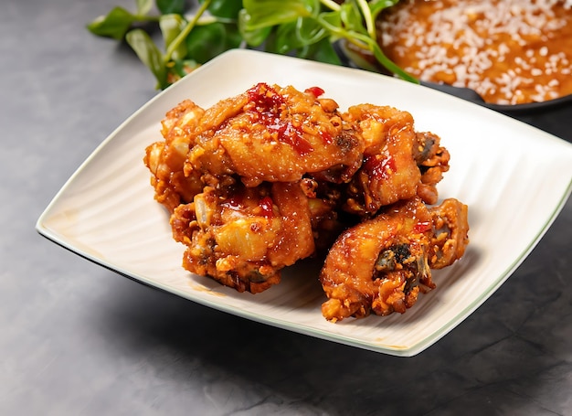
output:
[[[101,37],[125,39],[164,89],[198,65],[231,48],[341,64],[334,43],[344,39],[369,52],[398,77],[418,82],[387,59],[377,43],[376,18],[398,0],[199,0],[185,15],[185,0],[135,0],[134,13],[117,6],[88,29]],[[155,10],[155,11],[154,11]],[[163,45],[154,43],[158,25]]]

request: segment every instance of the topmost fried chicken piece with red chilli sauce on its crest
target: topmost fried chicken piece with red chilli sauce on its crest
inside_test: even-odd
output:
[[[307,173],[349,180],[361,165],[363,146],[337,103],[316,96],[321,92],[260,83],[218,102],[195,133],[187,170],[236,174],[249,187],[295,182]]]

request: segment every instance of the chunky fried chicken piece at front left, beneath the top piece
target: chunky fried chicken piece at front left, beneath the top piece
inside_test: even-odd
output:
[[[298,183],[215,189],[175,208],[183,265],[238,292],[260,293],[280,282],[283,267],[314,252],[307,197]]]

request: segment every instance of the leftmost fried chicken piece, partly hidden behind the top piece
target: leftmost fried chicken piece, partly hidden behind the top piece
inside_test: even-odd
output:
[[[200,174],[185,174],[184,166],[190,147],[188,132],[196,129],[204,112],[192,101],[181,102],[162,121],[164,141],[145,149],[143,163],[152,173],[154,197],[170,212],[180,203],[192,201],[203,188]]]

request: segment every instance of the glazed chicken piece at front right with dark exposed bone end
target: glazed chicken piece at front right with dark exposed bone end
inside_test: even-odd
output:
[[[431,217],[417,198],[347,229],[329,251],[320,274],[328,301],[323,316],[338,321],[405,312],[419,283],[432,288],[428,251]]]

